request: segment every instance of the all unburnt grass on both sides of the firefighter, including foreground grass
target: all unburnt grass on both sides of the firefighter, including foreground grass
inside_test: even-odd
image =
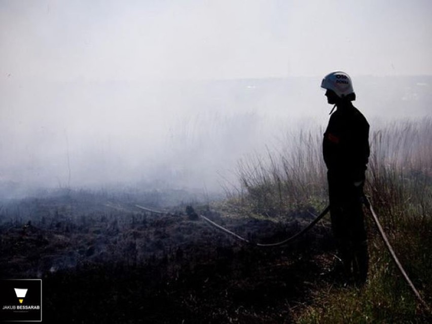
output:
[[[321,133],[300,133],[289,149],[242,160],[241,195],[232,201],[270,218],[327,203]],[[371,132],[366,194],[408,275],[432,303],[432,119],[393,122]],[[393,266],[368,221],[369,283],[363,289],[329,285],[298,311],[301,323],[423,322],[427,318]]]

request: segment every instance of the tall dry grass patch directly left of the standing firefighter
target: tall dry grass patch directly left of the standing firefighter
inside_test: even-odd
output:
[[[237,175],[242,195],[238,197],[250,212],[282,217],[307,205],[322,207],[326,197],[326,170],[321,159],[319,135],[301,132],[290,136],[289,148],[266,156],[240,160]]]

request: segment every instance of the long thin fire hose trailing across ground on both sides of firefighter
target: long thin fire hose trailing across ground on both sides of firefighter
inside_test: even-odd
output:
[[[392,260],[396,264],[397,268],[401,272],[402,276],[404,277],[405,281],[408,283],[409,287],[411,288],[412,292],[414,293],[415,297],[420,302],[420,304],[424,307],[424,309],[427,312],[432,313],[431,309],[429,308],[429,306],[427,305],[427,303],[421,297],[420,293],[418,292],[418,290],[414,286],[413,282],[409,278],[408,274],[406,273],[406,271],[405,271],[404,267],[402,266],[401,262],[399,261],[398,257],[394,253],[394,250],[393,250],[393,248],[392,248],[392,246],[391,246],[391,244],[390,244],[390,242],[389,242],[389,240],[387,238],[387,235],[385,235],[385,232],[384,232],[384,230],[383,230],[383,228],[381,226],[381,223],[378,220],[378,217],[377,217],[377,215],[376,215],[376,213],[375,213],[375,211],[374,211],[374,209],[372,207],[372,204],[370,203],[369,199],[366,196],[364,196],[364,197],[365,197],[365,205],[366,205],[366,207],[369,209],[369,211],[372,214],[372,218],[373,218],[373,220],[374,220],[374,222],[375,222],[375,224],[376,224],[376,226],[378,228],[378,231],[379,231],[379,233],[381,235],[382,240],[385,243],[385,246],[387,247],[387,250],[390,253],[390,256],[391,256]],[[149,211],[149,212],[153,212],[153,213],[157,213],[157,214],[165,214],[162,211],[146,208],[146,207],[143,207],[143,206],[140,206],[140,205],[135,205],[135,206],[138,207],[138,208],[140,208],[140,209]],[[293,236],[291,236],[289,238],[286,238],[283,241],[276,242],[276,243],[268,243],[268,244],[252,242],[252,241],[250,241],[250,240],[248,240],[248,239],[246,239],[246,238],[244,238],[244,237],[242,237],[242,236],[240,236],[240,235],[238,235],[238,234],[236,234],[236,233],[234,233],[234,232],[226,229],[225,227],[223,227],[223,226],[221,226],[221,225],[219,225],[219,224],[217,224],[217,223],[209,220],[204,215],[200,215],[200,217],[201,217],[201,219],[203,219],[204,221],[206,221],[211,226],[213,226],[215,228],[218,228],[218,229],[222,230],[223,232],[225,232],[227,234],[230,234],[230,235],[236,237],[237,239],[239,239],[239,240],[241,240],[241,241],[243,241],[245,243],[253,244],[253,245],[261,246],[261,247],[274,247],[274,246],[280,246],[280,245],[289,243],[289,242],[293,241],[294,239],[298,238],[299,236],[305,234],[316,223],[318,223],[319,220],[321,220],[329,212],[329,210],[330,210],[330,205],[328,205],[324,210],[322,210],[322,212],[308,226],[306,226],[303,230],[301,230],[297,234],[295,234],[295,235],[293,235]]]

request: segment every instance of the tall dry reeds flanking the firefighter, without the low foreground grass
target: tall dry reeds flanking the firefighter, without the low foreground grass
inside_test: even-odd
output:
[[[287,135],[281,148],[238,162],[243,203],[252,212],[276,217],[327,201],[326,166],[319,132]],[[422,218],[432,208],[432,119],[392,122],[371,131],[366,194],[392,230],[398,219]]]

